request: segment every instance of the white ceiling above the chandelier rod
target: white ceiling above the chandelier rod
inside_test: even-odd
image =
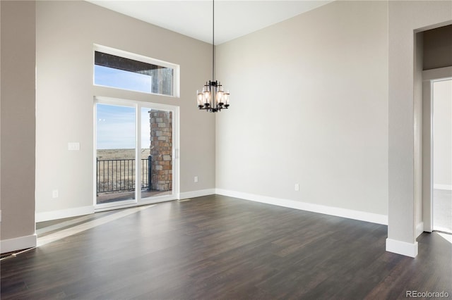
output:
[[[212,43],[212,1],[87,0],[112,11]],[[215,44],[222,44],[263,27],[332,2],[321,0],[215,1]]]

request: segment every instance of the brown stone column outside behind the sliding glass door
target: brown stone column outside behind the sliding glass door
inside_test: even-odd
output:
[[[151,188],[172,189],[172,112],[149,111],[150,155],[153,156]]]

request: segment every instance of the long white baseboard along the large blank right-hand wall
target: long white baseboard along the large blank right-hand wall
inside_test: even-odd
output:
[[[310,204],[306,202],[279,199],[268,196],[261,196],[256,194],[248,194],[242,192],[234,192],[227,189],[216,189],[215,194],[224,196],[232,196],[235,198],[261,202],[265,204],[273,204],[277,206],[284,206],[288,208],[295,208],[302,211],[312,211],[314,213],[324,213],[326,215],[335,215],[342,218],[349,218],[381,225],[388,225],[388,216],[379,215],[377,213],[367,213],[364,211],[354,211],[346,208],[337,208],[332,206],[323,206],[320,204]]]

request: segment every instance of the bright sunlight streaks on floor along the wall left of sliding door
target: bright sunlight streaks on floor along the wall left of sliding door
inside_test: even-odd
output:
[[[51,233],[49,235],[44,235],[44,237],[38,237],[37,238],[37,246],[44,246],[45,244],[49,244],[51,242],[55,242],[59,239],[64,239],[65,237],[69,237],[71,235],[76,235],[79,232],[83,232],[85,230],[91,229],[93,227],[97,227],[102,224],[106,224],[109,222],[112,222],[114,220],[118,220],[119,218],[123,218],[127,215],[131,215],[132,213],[136,213],[138,211],[143,211],[144,209],[150,208],[155,206],[155,204],[147,205],[147,206],[139,206],[135,208],[129,208],[125,210],[118,211],[117,213],[112,213],[109,215],[105,215],[100,218],[96,218],[95,220],[76,225],[74,227],[69,227],[64,230],[59,230],[57,232]],[[58,230],[59,228],[66,227],[68,225],[73,225],[76,223],[80,223],[83,220],[86,220],[87,216],[83,216],[81,218],[77,218],[75,220],[66,221],[63,223],[59,223],[57,225],[52,225],[49,227],[44,227],[41,230],[37,230],[37,234],[40,235],[40,233],[49,232],[51,230]]]

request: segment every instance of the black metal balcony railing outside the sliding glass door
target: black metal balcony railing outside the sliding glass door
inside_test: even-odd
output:
[[[152,156],[141,159],[141,189],[150,190]],[[135,190],[135,159],[97,159],[97,193]]]

